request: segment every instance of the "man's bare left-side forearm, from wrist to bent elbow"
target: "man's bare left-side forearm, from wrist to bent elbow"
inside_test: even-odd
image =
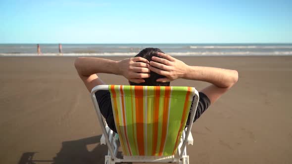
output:
[[[91,76],[97,73],[119,74],[117,62],[109,59],[78,57],[74,65],[78,74],[82,76]]]

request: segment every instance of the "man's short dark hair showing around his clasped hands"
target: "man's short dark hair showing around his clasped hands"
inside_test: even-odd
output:
[[[144,48],[135,57],[143,57],[150,62],[152,61],[152,56],[160,57],[157,55],[157,52],[162,52],[162,51],[159,48]],[[169,86],[170,82],[156,82],[156,80],[160,78],[166,78],[166,77],[151,71],[150,78],[144,79],[145,82],[142,82],[142,83],[130,82],[130,84],[131,85],[148,85],[148,86]]]

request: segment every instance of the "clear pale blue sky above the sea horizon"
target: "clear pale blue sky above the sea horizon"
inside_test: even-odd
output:
[[[0,0],[0,43],[292,42],[291,0]]]

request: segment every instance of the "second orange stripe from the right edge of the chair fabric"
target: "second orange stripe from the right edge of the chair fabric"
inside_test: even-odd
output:
[[[164,94],[164,104],[163,104],[163,122],[162,122],[162,135],[161,135],[161,142],[159,148],[159,156],[163,154],[163,148],[166,139],[166,130],[167,130],[167,121],[168,121],[168,107],[169,107],[169,95],[170,95],[170,87],[165,87],[165,94]]]

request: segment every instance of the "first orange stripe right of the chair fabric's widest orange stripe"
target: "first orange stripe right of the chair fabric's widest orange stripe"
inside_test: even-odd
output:
[[[156,147],[157,147],[157,137],[158,137],[158,116],[159,116],[159,96],[160,96],[160,89],[159,86],[154,86],[154,104],[153,104],[153,147],[152,147],[152,156],[156,154]]]

